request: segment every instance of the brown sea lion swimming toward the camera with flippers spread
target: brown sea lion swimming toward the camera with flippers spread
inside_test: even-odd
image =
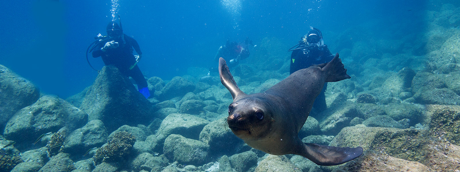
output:
[[[298,136],[324,83],[351,78],[338,53],[332,61],[294,72],[263,93],[241,91],[223,58],[219,75],[233,97],[227,123],[247,145],[272,155],[301,155],[322,166],[343,164],[362,154],[361,147],[303,143]]]

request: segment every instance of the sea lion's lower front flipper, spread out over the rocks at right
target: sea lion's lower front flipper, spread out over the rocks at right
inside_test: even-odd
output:
[[[362,147],[340,148],[319,144],[305,143],[305,158],[320,166],[335,166],[351,161],[362,154]]]

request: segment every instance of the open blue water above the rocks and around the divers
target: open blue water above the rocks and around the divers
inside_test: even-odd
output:
[[[144,53],[138,63],[148,78],[169,80],[188,67],[217,66],[216,50],[227,39],[255,44],[275,37],[290,47],[320,28],[331,52],[347,45],[328,42],[328,33],[362,26],[369,39],[400,39],[424,30],[420,0],[119,0],[123,29]],[[68,97],[97,76],[86,62],[86,48],[112,20],[109,0],[17,0],[0,2],[0,64],[28,78],[41,91]],[[354,32],[351,30],[350,32]],[[362,31],[356,31],[362,32]],[[280,48],[285,48],[280,47]],[[334,49],[337,48],[337,49]],[[286,56],[290,55],[286,51]],[[284,58],[284,57],[280,57]],[[247,59],[247,60],[250,60]],[[103,62],[93,59],[100,69]]]

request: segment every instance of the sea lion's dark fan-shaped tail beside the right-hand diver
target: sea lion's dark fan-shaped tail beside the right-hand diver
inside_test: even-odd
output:
[[[334,59],[329,61],[326,66],[322,67],[322,70],[326,72],[325,82],[337,82],[344,79],[351,78],[346,74],[346,69],[342,60],[339,58],[339,53],[336,53]]]

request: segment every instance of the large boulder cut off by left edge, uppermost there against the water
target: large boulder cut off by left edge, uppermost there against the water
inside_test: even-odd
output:
[[[0,128],[16,111],[32,105],[40,97],[33,83],[0,65]]]

